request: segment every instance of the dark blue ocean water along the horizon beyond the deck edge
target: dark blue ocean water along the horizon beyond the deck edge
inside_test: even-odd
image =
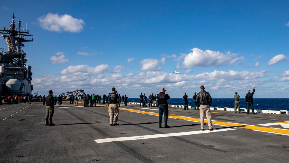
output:
[[[241,108],[247,108],[244,98],[240,98]],[[220,98],[213,99],[211,107],[218,108],[235,108],[234,106],[235,99],[233,98]],[[127,102],[140,102],[140,98],[128,98]],[[147,103],[149,100],[147,99]],[[189,106],[194,106],[194,100],[188,98]],[[259,110],[288,110],[289,111],[289,98],[253,98],[254,109]],[[169,105],[184,105],[183,98],[171,98],[168,100]],[[251,108],[250,108],[251,109]]]

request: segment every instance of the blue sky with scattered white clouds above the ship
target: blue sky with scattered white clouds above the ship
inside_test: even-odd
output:
[[[3,1],[25,45],[33,93],[288,98],[289,1]],[[0,40],[1,48],[7,48]],[[173,72],[180,71],[180,74]]]

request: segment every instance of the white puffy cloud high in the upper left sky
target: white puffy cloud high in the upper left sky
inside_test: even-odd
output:
[[[37,20],[42,28],[56,32],[80,32],[85,25],[82,19],[73,18],[68,14],[58,15],[50,12],[46,16],[38,17]]]

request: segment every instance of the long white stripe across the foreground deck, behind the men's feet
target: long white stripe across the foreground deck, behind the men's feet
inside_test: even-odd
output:
[[[163,137],[172,137],[172,136],[184,136],[184,135],[194,135],[194,134],[205,134],[210,132],[220,132],[220,131],[230,131],[235,130],[232,128],[225,129],[214,129],[213,131],[205,130],[205,131],[189,131],[189,132],[179,132],[179,133],[169,133],[169,134],[155,134],[155,135],[143,135],[143,136],[130,136],[130,137],[122,137],[122,138],[106,138],[106,139],[96,139],[94,140],[97,143],[104,142],[114,142],[114,141],[126,141],[126,140],[141,140],[141,139],[151,139],[151,138],[163,138]]]

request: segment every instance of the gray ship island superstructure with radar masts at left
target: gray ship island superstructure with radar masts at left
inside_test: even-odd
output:
[[[13,13],[10,26],[0,28],[1,36],[7,43],[7,49],[1,48],[0,51],[1,96],[31,95],[33,90],[31,66],[26,65],[26,53],[21,49],[24,42],[33,41],[33,38],[26,37],[33,35],[21,28],[21,21],[16,27],[14,18]]]

